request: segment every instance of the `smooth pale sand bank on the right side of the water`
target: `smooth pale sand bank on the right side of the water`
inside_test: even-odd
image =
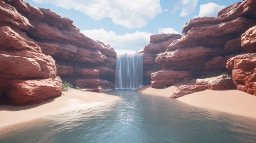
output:
[[[150,86],[145,86],[138,89],[137,91],[145,94],[164,96],[168,98],[169,94],[172,93],[180,85],[194,84],[195,80],[187,83],[175,84],[165,89],[154,89]],[[256,96],[252,96],[251,94],[240,90],[205,90],[188,94],[178,99],[170,100],[179,100],[192,106],[256,118]]]

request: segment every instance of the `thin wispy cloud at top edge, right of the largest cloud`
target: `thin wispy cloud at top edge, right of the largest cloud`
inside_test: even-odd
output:
[[[172,13],[180,12],[180,17],[185,17],[195,11],[195,7],[198,5],[198,0],[181,0],[173,8]]]

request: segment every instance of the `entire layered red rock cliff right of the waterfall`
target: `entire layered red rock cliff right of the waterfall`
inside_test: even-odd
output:
[[[155,70],[163,67],[145,73],[151,76],[151,87],[162,88],[228,69],[239,90],[255,94],[255,55],[246,54],[255,53],[255,25],[256,1],[253,0],[226,7],[216,17],[191,19],[183,27],[181,38],[161,47],[165,52],[149,58],[157,65]],[[145,52],[146,46],[137,53],[154,55],[154,51]],[[159,49],[159,45],[151,49]]]

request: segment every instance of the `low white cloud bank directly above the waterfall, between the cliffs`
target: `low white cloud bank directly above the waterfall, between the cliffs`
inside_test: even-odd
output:
[[[120,50],[139,50],[149,43],[151,33],[139,32],[126,33],[124,35],[117,35],[113,31],[105,31],[104,29],[84,30],[82,31],[86,36],[110,44],[114,49]]]

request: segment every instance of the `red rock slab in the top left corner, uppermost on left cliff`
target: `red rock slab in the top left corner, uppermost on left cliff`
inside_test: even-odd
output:
[[[26,17],[19,14],[14,7],[5,4],[3,1],[0,1],[0,26],[9,26],[13,29],[24,31],[33,28]]]

